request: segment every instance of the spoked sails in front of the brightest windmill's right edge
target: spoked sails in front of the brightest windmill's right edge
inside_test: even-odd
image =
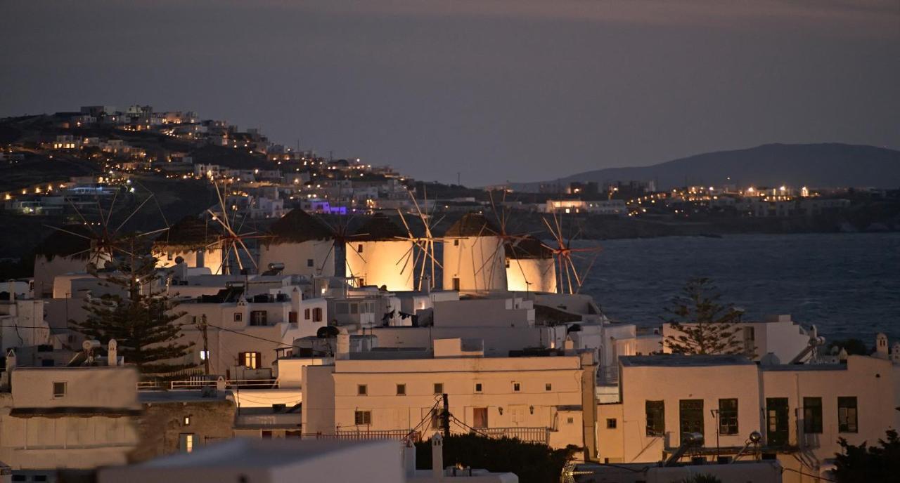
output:
[[[437,224],[441,223],[444,220],[444,216],[441,216],[434,220],[433,215],[428,214],[428,193],[423,193],[425,199],[425,211],[423,212],[421,207],[419,206],[419,201],[416,200],[416,197],[412,194],[412,191],[407,191],[412,199],[412,205],[416,208],[415,215],[419,218],[424,230],[424,236],[416,236],[412,233],[410,229],[410,224],[407,223],[406,217],[403,215],[403,212],[400,208],[397,208],[397,213],[400,215],[400,219],[403,222],[403,227],[406,228],[407,236],[406,237],[397,237],[398,240],[409,241],[412,244],[410,245],[410,249],[406,250],[405,253],[401,256],[400,259],[397,260],[396,265],[400,265],[401,267],[401,275],[406,273],[406,269],[409,267],[409,276],[407,280],[410,281],[412,277],[414,277],[416,270],[419,270],[419,284],[418,290],[422,290],[422,282],[428,273],[428,289],[435,288],[437,268],[444,269],[444,267],[437,261],[435,258],[435,243],[443,242],[444,239],[436,238],[434,236],[434,227]],[[412,262],[410,264],[410,261]],[[430,267],[430,269],[429,269]]]

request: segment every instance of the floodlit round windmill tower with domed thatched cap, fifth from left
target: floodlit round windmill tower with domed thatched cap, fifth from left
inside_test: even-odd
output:
[[[443,238],[445,290],[507,290],[503,238],[486,216],[475,212],[463,215]]]

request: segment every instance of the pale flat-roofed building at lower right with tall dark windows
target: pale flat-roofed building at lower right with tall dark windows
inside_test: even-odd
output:
[[[896,355],[900,363],[900,354]],[[824,476],[841,452],[900,426],[900,365],[869,356],[845,364],[753,364],[743,356],[622,357],[620,399],[599,406],[599,461],[660,461],[687,433],[694,456],[734,456],[752,432],[754,451],[790,469]],[[808,479],[804,479],[807,481]]]

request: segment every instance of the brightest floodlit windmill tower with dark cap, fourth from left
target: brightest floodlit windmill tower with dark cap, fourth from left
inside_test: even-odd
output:
[[[345,243],[347,276],[355,277],[358,285],[384,285],[395,292],[414,289],[412,277],[397,263],[413,250],[413,242],[387,215],[369,217]]]

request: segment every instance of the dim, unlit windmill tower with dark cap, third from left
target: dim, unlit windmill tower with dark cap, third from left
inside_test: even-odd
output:
[[[328,225],[295,208],[272,224],[259,244],[259,266],[284,263],[284,273],[307,277],[335,276],[335,234]]]

